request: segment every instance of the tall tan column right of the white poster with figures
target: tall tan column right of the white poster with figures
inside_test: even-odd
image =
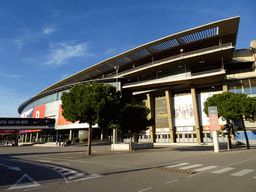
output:
[[[195,118],[195,131],[196,131],[196,138],[197,142],[201,143],[201,128],[200,128],[200,122],[199,122],[199,112],[198,112],[198,104],[197,104],[197,94],[196,89],[194,86],[191,87],[191,95],[192,95],[192,101],[193,101],[193,110],[194,110],[194,118]]]

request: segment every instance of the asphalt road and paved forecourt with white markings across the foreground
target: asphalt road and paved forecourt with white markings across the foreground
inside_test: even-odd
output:
[[[256,150],[0,147],[1,191],[256,191]]]

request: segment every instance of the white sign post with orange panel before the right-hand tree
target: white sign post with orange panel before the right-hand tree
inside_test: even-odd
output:
[[[219,130],[219,121],[218,121],[218,111],[217,107],[208,107],[209,113],[209,121],[210,121],[210,129],[213,133],[213,145],[214,145],[214,152],[219,153],[219,142],[218,142],[218,135],[217,130]]]

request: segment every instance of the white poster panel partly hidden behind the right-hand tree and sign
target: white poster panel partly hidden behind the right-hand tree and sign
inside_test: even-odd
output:
[[[219,94],[222,93],[222,91],[215,91],[215,92],[209,92],[209,93],[200,93],[198,94],[198,105],[199,105],[199,120],[200,120],[200,125],[203,126],[204,130],[209,130],[210,128],[210,122],[209,122],[209,117],[204,113],[204,103],[206,100],[213,96],[214,94]],[[219,127],[223,127],[223,125],[226,124],[225,121],[223,121],[221,118],[219,118]]]

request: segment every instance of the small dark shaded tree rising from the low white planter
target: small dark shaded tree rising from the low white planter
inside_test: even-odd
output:
[[[153,124],[153,120],[147,118],[149,113],[150,110],[142,105],[126,104],[121,110],[118,127],[122,133],[130,135],[130,150],[132,150],[132,135]]]

